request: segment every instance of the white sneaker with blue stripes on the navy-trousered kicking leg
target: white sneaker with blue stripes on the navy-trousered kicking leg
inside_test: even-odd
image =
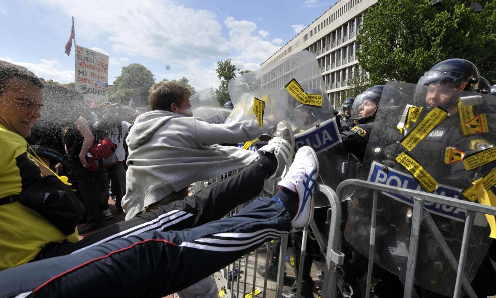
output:
[[[298,211],[291,221],[294,228],[305,227],[312,220],[313,191],[318,175],[317,154],[311,147],[303,146],[296,152],[293,165],[278,183],[279,186],[298,194]]]

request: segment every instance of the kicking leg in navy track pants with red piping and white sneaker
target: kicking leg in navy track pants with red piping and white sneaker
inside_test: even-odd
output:
[[[5,270],[0,296],[162,297],[181,290],[310,222],[318,163],[313,150],[300,151],[309,154],[306,164],[289,169],[274,198],[194,229],[151,231]]]

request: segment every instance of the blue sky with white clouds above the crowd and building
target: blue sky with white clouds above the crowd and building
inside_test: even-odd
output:
[[[257,70],[335,0],[7,0],[0,3],[0,60],[60,83],[74,81],[74,46],[64,53],[72,16],[76,43],[108,54],[112,84],[140,63],[156,81],[186,77],[217,88],[216,63]]]

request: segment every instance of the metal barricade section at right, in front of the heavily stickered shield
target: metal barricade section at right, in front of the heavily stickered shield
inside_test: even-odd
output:
[[[404,298],[410,298],[412,297],[413,294],[414,274],[415,274],[415,266],[417,261],[417,249],[419,244],[420,225],[422,222],[425,222],[427,224],[429,230],[432,232],[437,243],[442,249],[443,254],[448,259],[451,268],[454,270],[454,272],[456,272],[456,283],[455,283],[455,290],[453,297],[456,298],[460,297],[461,286],[463,286],[465,292],[470,298],[476,298],[475,292],[473,291],[470,282],[463,274],[464,266],[465,266],[465,257],[468,248],[468,239],[470,236],[470,229],[473,224],[476,213],[483,213],[483,214],[496,216],[496,207],[486,206],[479,203],[473,203],[455,198],[440,196],[436,194],[408,190],[405,188],[387,186],[383,184],[377,184],[377,183],[357,180],[357,179],[349,179],[339,184],[339,186],[336,189],[337,197],[340,198],[339,201],[346,200],[347,197],[343,197],[344,189],[346,187],[361,187],[373,191],[373,197],[371,198],[373,202],[371,207],[372,210],[371,210],[371,223],[370,223],[369,256],[374,255],[374,249],[375,249],[374,245],[375,245],[378,191],[414,198],[411,233],[410,233],[410,247],[408,249],[408,261],[406,268],[405,288],[403,294]],[[364,199],[360,198],[359,200],[364,200]],[[458,260],[451,252],[450,247],[447,245],[446,241],[441,235],[441,232],[434,223],[434,220],[432,219],[431,215],[429,214],[428,211],[424,209],[424,203],[426,202],[449,205],[454,208],[460,208],[467,211],[463,240],[461,244],[461,251]],[[333,204],[332,201],[331,204]],[[331,209],[332,209],[332,217],[331,217],[330,232],[329,232],[329,238],[327,244],[327,255],[326,255],[326,264],[324,270],[322,296],[333,298],[337,296],[336,287],[338,285],[341,286],[343,285],[342,283],[339,284],[338,271],[340,270],[340,266],[344,262],[344,255],[340,252],[341,206],[338,202],[336,202],[334,203],[334,205],[331,205]],[[367,283],[366,283],[367,289],[370,288],[370,284],[371,284],[372,263],[373,263],[373,258],[368,258],[368,272],[367,272]],[[368,298],[369,296],[370,296],[370,291],[367,290],[366,297]]]

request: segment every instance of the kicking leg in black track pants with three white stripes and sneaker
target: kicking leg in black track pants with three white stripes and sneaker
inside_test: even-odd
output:
[[[222,180],[194,195],[138,215],[128,221],[107,226],[76,243],[50,244],[41,258],[61,256],[100,243],[129,237],[150,230],[183,230],[193,228],[226,215],[236,206],[256,197],[264,180],[279,177],[293,160],[294,136],[290,126],[278,125],[274,142],[262,147],[261,157],[238,174]],[[38,257],[37,259],[41,259]]]

